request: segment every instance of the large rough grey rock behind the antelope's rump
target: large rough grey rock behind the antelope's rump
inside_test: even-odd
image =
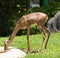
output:
[[[60,11],[54,17],[50,18],[47,27],[51,32],[60,32]]]

